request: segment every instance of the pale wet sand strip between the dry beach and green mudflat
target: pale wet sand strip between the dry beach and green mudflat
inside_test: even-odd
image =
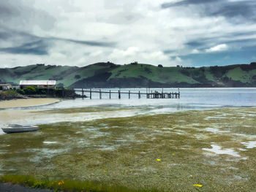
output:
[[[77,122],[102,118],[127,117],[138,113],[138,110],[111,110],[102,107],[87,107],[69,110],[31,110],[13,109],[0,110],[0,135],[4,134],[1,127],[8,124],[39,125],[42,123],[57,123],[63,121]]]

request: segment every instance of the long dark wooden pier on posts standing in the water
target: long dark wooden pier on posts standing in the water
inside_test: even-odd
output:
[[[138,95],[138,99],[141,98],[141,96],[146,95],[146,99],[180,99],[180,91],[178,88],[178,92],[164,92],[162,89],[162,92],[158,91],[150,91],[149,89],[146,89],[146,93],[141,93],[140,91],[135,92],[135,91],[124,91],[121,92],[120,90],[118,91],[102,91],[101,89],[99,90],[92,90],[92,89],[75,89],[76,92],[81,92],[82,93],[82,98],[84,97],[89,97],[90,99],[92,98],[92,93],[99,93],[99,99],[102,99],[102,93],[105,93],[108,95],[108,98],[111,99],[111,95],[113,94],[118,94],[118,99],[121,99],[121,95],[127,94],[128,98],[131,99],[131,95]],[[86,96],[85,93],[89,93],[89,96]]]

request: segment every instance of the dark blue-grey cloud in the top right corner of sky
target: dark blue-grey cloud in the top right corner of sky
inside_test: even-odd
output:
[[[204,15],[210,17],[222,16],[233,23],[253,22],[256,20],[256,1],[227,1],[227,0],[184,0],[176,3],[162,4],[162,9],[200,5]]]

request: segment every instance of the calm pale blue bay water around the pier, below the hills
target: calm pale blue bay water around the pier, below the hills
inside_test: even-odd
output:
[[[99,89],[95,89],[99,90]],[[101,89],[109,91],[109,89]],[[111,89],[118,91],[118,89]],[[125,88],[124,92],[146,93],[146,88]],[[162,92],[162,88],[151,88],[151,91]],[[164,92],[178,92],[176,88],[164,88]],[[99,93],[93,93],[92,99],[64,100],[57,104],[34,107],[39,109],[58,109],[72,107],[150,107],[154,112],[175,112],[177,110],[204,110],[217,107],[255,107],[256,106],[256,88],[180,88],[180,99],[146,99],[145,95],[138,99],[138,95],[112,94],[109,99],[109,93],[102,93],[102,99],[99,99]],[[89,96],[89,93],[86,93]]]

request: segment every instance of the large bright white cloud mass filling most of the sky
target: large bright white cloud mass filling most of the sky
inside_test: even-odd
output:
[[[96,47],[53,41],[48,45],[48,55],[0,52],[1,66],[24,66],[37,62],[86,66],[99,61],[112,61],[116,64],[138,61],[175,66],[187,64],[187,61],[181,60],[182,55],[231,50],[236,46],[223,42],[256,39],[255,34],[246,34],[256,31],[256,23],[233,24],[225,17],[206,17],[200,7],[161,9],[161,4],[166,0],[8,2],[18,12],[15,16],[0,17],[1,28],[4,26],[44,38],[59,37],[115,44],[113,47]],[[234,37],[232,34],[240,35]],[[200,40],[203,42],[201,47],[187,45],[187,42]],[[31,41],[29,37],[18,35],[9,39],[0,36],[0,49],[18,47]],[[167,53],[165,50],[171,51]]]

